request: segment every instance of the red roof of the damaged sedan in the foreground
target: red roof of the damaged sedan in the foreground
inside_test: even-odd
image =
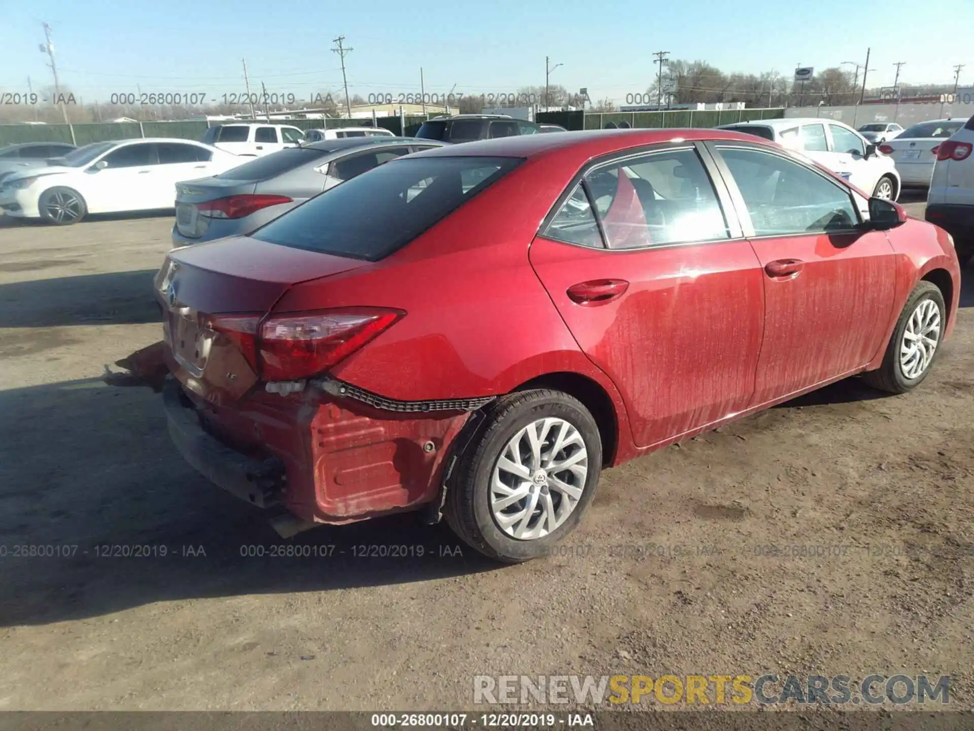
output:
[[[657,142],[696,139],[727,139],[764,143],[778,147],[753,135],[730,130],[666,129],[666,130],[585,130],[560,135],[513,135],[496,139],[480,139],[456,145],[443,145],[434,150],[417,152],[410,157],[520,157],[532,158],[565,153],[578,155],[581,161],[616,150],[642,147]]]

